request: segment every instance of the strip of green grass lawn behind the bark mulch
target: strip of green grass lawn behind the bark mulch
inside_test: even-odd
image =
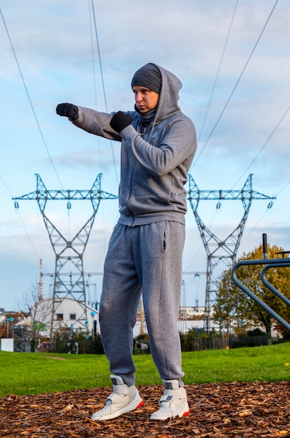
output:
[[[182,354],[184,383],[290,379],[290,343]],[[151,355],[135,355],[138,385],[161,384]],[[0,397],[110,386],[104,355],[0,351]]]

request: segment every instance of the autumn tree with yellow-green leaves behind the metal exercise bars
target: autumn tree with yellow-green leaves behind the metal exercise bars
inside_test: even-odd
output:
[[[277,253],[283,251],[277,246],[270,247],[268,244],[268,257],[277,258]],[[247,255],[243,254],[240,260],[261,260],[263,259],[263,246],[255,248]],[[239,260],[239,261],[240,261]],[[254,292],[260,299],[270,306],[275,312],[279,313],[285,320],[289,320],[289,308],[271,292],[261,281],[261,265],[242,266],[237,271],[239,280]],[[289,267],[271,268],[267,272],[267,280],[277,290],[290,298]],[[222,321],[224,327],[230,327],[233,320],[243,327],[249,327],[255,323],[260,323],[265,327],[266,334],[270,343],[271,326],[273,318],[261,306],[256,304],[248,295],[238,288],[231,278],[231,269],[224,271],[220,277],[217,299],[214,306],[214,320]]]

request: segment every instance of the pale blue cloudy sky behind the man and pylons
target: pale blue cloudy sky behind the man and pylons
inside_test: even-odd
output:
[[[21,201],[15,211],[11,199],[36,190],[35,174],[48,190],[87,190],[101,173],[102,190],[117,195],[119,143],[82,132],[55,107],[68,101],[130,110],[131,78],[147,62],[182,80],[180,107],[198,135],[190,171],[198,187],[240,190],[251,173],[254,190],[277,195],[270,210],[268,202],[253,201],[238,256],[259,246],[263,232],[270,244],[290,248],[288,0],[1,0],[0,8],[0,307],[19,308],[24,290],[38,281],[40,258],[45,274],[55,269],[37,202]],[[103,269],[117,209],[117,201],[101,202],[86,272]],[[73,235],[92,208],[75,202],[68,211],[66,202],[51,202],[45,213]],[[217,236],[227,236],[242,217],[242,204],[225,201],[217,211],[216,202],[200,202],[198,213]],[[184,271],[205,269],[188,204]],[[45,276],[45,295],[50,282]],[[96,290],[99,299],[101,276],[91,282],[89,294]],[[203,276],[184,275],[184,284],[186,304],[198,299],[203,305]]]

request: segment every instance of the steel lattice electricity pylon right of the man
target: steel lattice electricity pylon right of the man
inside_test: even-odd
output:
[[[215,296],[217,292],[217,278],[215,278],[213,271],[219,264],[224,262],[225,268],[229,268],[238,252],[240,240],[242,239],[242,232],[245,229],[247,217],[249,215],[249,208],[253,199],[275,199],[275,197],[269,197],[262,193],[255,192],[252,189],[252,174],[249,174],[247,181],[245,182],[242,190],[199,190],[194,178],[189,175],[189,202],[191,209],[194,213],[194,218],[198,226],[198,230],[201,234],[201,239],[205,247],[207,255],[207,274],[206,274],[206,288],[205,288],[205,320],[204,328],[209,330],[210,328],[210,311],[212,305],[215,304]],[[219,239],[213,232],[205,226],[201,220],[201,216],[198,215],[198,203],[203,201],[217,201],[218,205],[223,200],[235,201],[240,199],[242,206],[244,207],[244,214],[238,226],[226,237],[226,239]],[[270,201],[268,208],[273,205]]]

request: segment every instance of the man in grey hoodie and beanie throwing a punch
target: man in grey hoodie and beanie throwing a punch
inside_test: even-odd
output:
[[[187,211],[187,172],[196,150],[193,123],[177,101],[182,87],[170,71],[149,63],[133,76],[135,111],[99,113],[59,104],[77,127],[121,141],[119,220],[106,255],[99,308],[101,339],[113,394],[93,420],[110,420],[143,405],[135,386],[133,326],[143,294],[152,358],[164,384],[152,420],[189,414],[177,319]]]

